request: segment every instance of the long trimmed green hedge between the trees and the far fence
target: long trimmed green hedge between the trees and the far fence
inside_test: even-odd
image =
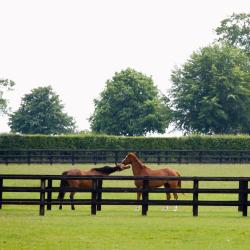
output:
[[[105,135],[0,135],[0,150],[250,150],[250,136],[123,137]]]

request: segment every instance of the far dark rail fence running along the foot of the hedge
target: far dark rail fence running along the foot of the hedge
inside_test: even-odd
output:
[[[0,150],[0,163],[111,163],[131,151],[147,163],[250,163],[250,150]]]

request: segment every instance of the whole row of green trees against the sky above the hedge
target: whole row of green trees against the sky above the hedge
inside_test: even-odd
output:
[[[116,72],[94,99],[91,131],[143,136],[164,134],[171,124],[184,134],[250,134],[250,13],[233,14],[215,31],[212,44],[172,70],[167,93],[134,69]],[[1,86],[12,89],[14,83],[0,80]],[[33,89],[9,114],[11,132],[79,132],[63,108],[51,86]],[[7,102],[0,96],[1,111],[7,112]]]

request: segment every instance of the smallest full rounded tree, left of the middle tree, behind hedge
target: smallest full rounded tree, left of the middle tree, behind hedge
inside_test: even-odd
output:
[[[63,134],[75,129],[73,118],[62,112],[63,105],[52,87],[39,87],[22,98],[19,109],[10,115],[12,132]]]

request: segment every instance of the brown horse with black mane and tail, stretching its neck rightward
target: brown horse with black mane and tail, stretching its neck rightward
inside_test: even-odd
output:
[[[91,168],[89,170],[80,170],[80,169],[70,169],[62,173],[66,176],[85,176],[85,175],[98,175],[98,176],[108,176],[116,171],[123,171],[130,168],[130,166],[125,166],[123,164],[116,165],[115,167],[104,166],[101,168]],[[91,188],[92,180],[61,180],[60,187],[82,187],[82,188]],[[58,200],[62,201],[64,198],[65,192],[60,191],[58,194]],[[70,192],[70,201],[71,209],[74,210],[75,206],[73,204],[75,192]],[[60,204],[59,209],[62,209],[62,204]]]

